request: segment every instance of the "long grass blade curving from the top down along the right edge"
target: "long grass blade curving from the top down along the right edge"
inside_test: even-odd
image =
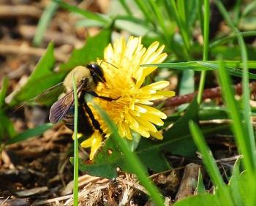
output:
[[[247,148],[248,150],[248,158],[250,159],[251,167],[248,169],[252,169],[250,172],[255,173],[256,172],[256,158],[254,155],[254,151],[256,150],[255,147],[255,135],[252,127],[252,120],[251,120],[251,106],[249,104],[250,99],[250,91],[249,91],[249,72],[248,72],[248,58],[247,58],[247,51],[246,46],[244,43],[244,39],[241,36],[240,32],[238,31],[238,28],[236,28],[230,19],[230,16],[227,13],[227,10],[223,6],[222,2],[217,0],[216,1],[217,7],[219,8],[219,11],[222,13],[223,17],[225,18],[225,21],[227,22],[228,26],[232,29],[232,31],[236,34],[238,39],[238,45],[241,47],[241,58],[243,62],[243,76],[242,76],[242,90],[243,90],[243,96],[242,96],[242,104],[243,104],[243,121],[244,121],[244,127],[246,128],[246,134],[248,134],[248,137],[246,136],[245,140],[247,142]]]

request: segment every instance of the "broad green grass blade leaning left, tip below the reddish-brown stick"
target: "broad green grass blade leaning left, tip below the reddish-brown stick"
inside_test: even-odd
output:
[[[197,124],[193,121],[189,121],[189,129],[192,133],[193,140],[195,141],[198,150],[202,154],[203,164],[205,164],[207,168],[208,175],[219,190],[219,197],[222,205],[234,205],[231,195],[222,180],[222,175],[220,175],[217,164],[214,161],[211,150],[206,144],[206,140],[204,139],[202,132],[198,128]]]

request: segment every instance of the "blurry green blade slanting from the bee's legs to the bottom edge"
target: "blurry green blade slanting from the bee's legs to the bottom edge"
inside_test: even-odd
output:
[[[110,120],[107,113],[103,111],[99,106],[94,104],[94,107],[99,111],[99,115],[102,117],[102,119],[108,124],[110,131],[113,132],[111,138],[113,138],[115,144],[118,145],[118,147],[124,153],[126,161],[129,162],[130,167],[134,171],[135,175],[137,175],[140,183],[146,188],[146,190],[150,194],[151,199],[156,205],[165,205],[157,187],[151,182],[151,180],[148,179],[146,168],[141,163],[140,159],[138,159],[138,156],[136,156],[136,154],[129,149],[127,142],[125,142],[125,140],[119,136],[118,130],[116,129],[113,121]]]

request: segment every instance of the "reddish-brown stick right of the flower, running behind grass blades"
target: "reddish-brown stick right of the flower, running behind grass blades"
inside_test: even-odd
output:
[[[234,88],[236,94],[239,94],[239,95],[242,94],[241,83],[234,85],[233,88]],[[255,93],[256,92],[256,83],[255,82],[250,83],[249,88],[251,89],[252,93]],[[174,96],[173,98],[167,99],[164,107],[176,107],[181,104],[189,103],[192,101],[192,99],[194,98],[194,96],[196,94],[197,94],[197,92],[191,93],[191,94]],[[221,88],[219,86],[217,86],[215,88],[206,88],[203,91],[203,99],[215,99],[215,98],[219,98],[221,96],[222,96],[222,93],[221,93]]]

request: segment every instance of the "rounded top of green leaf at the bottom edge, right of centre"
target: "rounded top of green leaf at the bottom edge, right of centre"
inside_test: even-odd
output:
[[[221,206],[217,196],[213,194],[199,194],[193,197],[188,197],[186,199],[181,199],[176,202],[173,206],[191,206],[191,205],[200,205],[200,206]]]

